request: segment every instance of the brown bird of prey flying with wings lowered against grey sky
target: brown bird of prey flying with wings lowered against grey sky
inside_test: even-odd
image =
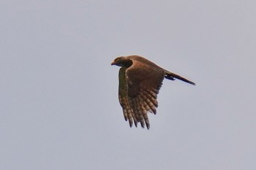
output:
[[[119,69],[118,98],[123,108],[124,119],[149,129],[148,112],[157,114],[157,94],[164,78],[182,80],[195,85],[184,77],[169,72],[157,64],[138,55],[116,58],[111,65],[121,66]]]

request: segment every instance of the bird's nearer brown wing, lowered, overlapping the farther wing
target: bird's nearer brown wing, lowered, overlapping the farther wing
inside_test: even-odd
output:
[[[127,96],[132,117],[144,127],[149,128],[147,112],[157,113],[157,94],[162,86],[165,70],[157,65],[133,60],[125,71]],[[128,116],[129,117],[129,116]]]

